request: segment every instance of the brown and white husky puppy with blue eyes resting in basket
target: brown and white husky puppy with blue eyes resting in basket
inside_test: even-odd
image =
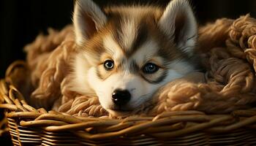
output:
[[[197,23],[186,0],[167,7],[100,9],[77,0],[73,14],[78,54],[72,91],[96,94],[105,110],[124,115],[162,85],[195,70]]]

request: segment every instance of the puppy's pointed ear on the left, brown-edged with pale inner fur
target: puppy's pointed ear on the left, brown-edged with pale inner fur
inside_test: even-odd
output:
[[[91,0],[77,0],[73,14],[75,39],[78,45],[90,39],[105,25],[107,18],[102,10]]]

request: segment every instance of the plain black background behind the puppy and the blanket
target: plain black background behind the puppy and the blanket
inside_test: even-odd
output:
[[[96,0],[101,7],[111,4],[159,4],[169,0]],[[255,0],[190,0],[200,25],[217,18],[238,18],[250,13],[256,17]],[[23,46],[32,42],[37,34],[46,33],[48,27],[61,29],[72,23],[72,0],[1,0],[0,1],[0,78],[7,66],[24,59]],[[4,137],[2,142],[7,142]],[[10,141],[8,141],[10,142]],[[10,143],[9,143],[10,144]]]

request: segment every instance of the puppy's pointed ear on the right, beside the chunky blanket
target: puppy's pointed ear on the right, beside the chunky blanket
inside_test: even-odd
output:
[[[173,0],[159,19],[159,28],[186,53],[192,53],[197,40],[197,23],[187,0]]]

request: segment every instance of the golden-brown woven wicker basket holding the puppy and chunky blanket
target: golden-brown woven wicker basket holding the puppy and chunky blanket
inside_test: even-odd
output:
[[[181,111],[125,119],[35,109],[12,83],[12,72],[24,66],[12,64],[0,82],[0,108],[5,109],[7,120],[3,121],[7,121],[13,145],[256,145],[255,109],[230,115]]]

